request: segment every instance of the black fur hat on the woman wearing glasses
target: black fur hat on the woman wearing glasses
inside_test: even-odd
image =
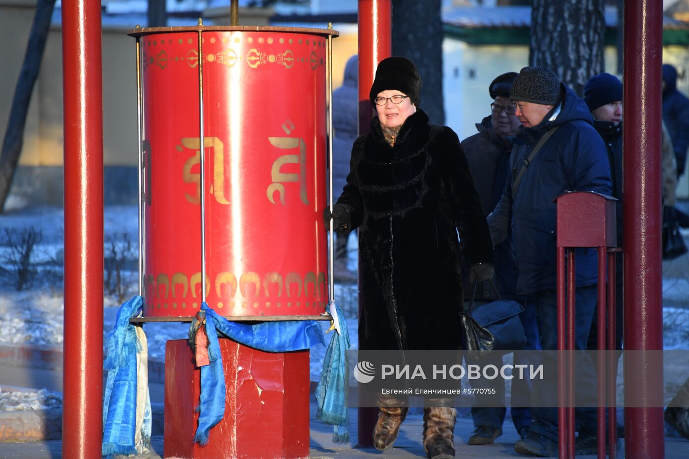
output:
[[[419,106],[421,77],[412,61],[406,57],[389,57],[380,61],[369,94],[371,105],[375,107],[378,93],[387,90],[404,92],[414,105]]]

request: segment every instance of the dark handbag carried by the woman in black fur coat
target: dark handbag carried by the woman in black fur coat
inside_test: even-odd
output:
[[[489,283],[500,298],[493,281]],[[481,354],[522,349],[526,345],[526,335],[519,314],[524,311],[524,306],[514,300],[502,299],[474,303],[476,285],[477,282],[474,283],[474,296],[469,309],[460,312],[464,349],[480,351]]]

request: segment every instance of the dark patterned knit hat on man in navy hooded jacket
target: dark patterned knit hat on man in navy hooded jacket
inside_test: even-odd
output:
[[[560,99],[559,78],[547,67],[524,67],[512,83],[510,99],[555,105]]]

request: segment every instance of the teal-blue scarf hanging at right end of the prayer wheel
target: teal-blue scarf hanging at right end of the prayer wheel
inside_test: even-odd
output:
[[[333,336],[323,359],[323,372],[316,387],[318,411],[316,418],[333,425],[333,442],[349,443],[347,424],[347,349],[349,333],[347,322],[340,307],[334,301],[330,303],[330,315],[333,317]]]

